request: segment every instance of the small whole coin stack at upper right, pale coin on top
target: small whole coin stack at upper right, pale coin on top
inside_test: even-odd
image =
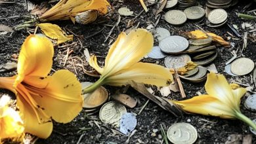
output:
[[[207,26],[221,27],[228,21],[228,13],[224,9],[214,9],[207,16]]]

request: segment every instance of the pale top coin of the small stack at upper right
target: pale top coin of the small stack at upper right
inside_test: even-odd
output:
[[[215,9],[209,12],[207,18],[212,24],[221,24],[228,18],[228,13],[224,9]]]

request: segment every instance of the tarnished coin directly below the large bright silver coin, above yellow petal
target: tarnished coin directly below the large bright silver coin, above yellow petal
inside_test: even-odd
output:
[[[180,56],[167,56],[165,58],[165,67],[178,69],[184,67],[186,63],[190,62],[191,58],[188,54],[182,54]]]

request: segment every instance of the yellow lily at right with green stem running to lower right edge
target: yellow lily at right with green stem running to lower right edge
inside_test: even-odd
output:
[[[183,101],[171,101],[190,113],[221,118],[238,118],[256,130],[256,124],[240,111],[240,99],[246,93],[245,88],[240,88],[237,84],[236,86],[228,84],[223,75],[209,73],[205,90],[207,94]]]

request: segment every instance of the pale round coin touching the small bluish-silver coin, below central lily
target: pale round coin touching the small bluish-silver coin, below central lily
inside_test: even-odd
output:
[[[106,124],[112,124],[119,127],[119,120],[125,113],[127,113],[125,106],[115,101],[110,101],[101,107],[100,120]]]

